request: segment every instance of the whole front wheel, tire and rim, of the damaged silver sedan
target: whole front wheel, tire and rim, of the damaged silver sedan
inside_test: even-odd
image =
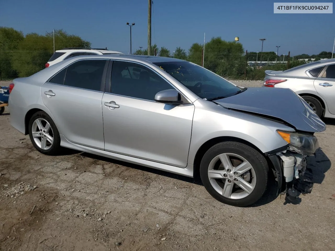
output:
[[[201,181],[209,194],[222,203],[240,207],[251,205],[263,196],[268,172],[264,156],[239,142],[221,142],[212,146],[200,163]]]

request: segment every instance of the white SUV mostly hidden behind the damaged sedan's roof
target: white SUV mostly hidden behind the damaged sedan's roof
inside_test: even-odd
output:
[[[65,59],[82,55],[103,55],[103,54],[123,54],[122,52],[109,51],[106,49],[88,49],[88,48],[64,48],[57,50],[45,64],[45,68],[61,62]]]

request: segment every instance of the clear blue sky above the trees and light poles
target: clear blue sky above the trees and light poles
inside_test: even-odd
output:
[[[276,1],[279,2],[279,1]],[[288,1],[286,1],[288,2]],[[308,1],[304,1],[308,2]],[[0,0],[0,26],[44,34],[53,28],[90,41],[93,48],[127,53],[147,47],[147,0]],[[245,50],[291,55],[332,51],[335,14],[273,14],[273,1],[153,0],[152,44],[188,50],[213,36],[240,37]]]

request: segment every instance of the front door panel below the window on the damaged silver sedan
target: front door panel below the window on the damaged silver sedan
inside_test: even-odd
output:
[[[110,93],[104,93],[102,104],[106,151],[186,167],[193,104],[161,104]]]

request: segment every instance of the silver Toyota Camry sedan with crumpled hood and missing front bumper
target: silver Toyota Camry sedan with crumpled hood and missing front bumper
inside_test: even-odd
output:
[[[244,88],[175,58],[78,56],[13,81],[11,125],[44,154],[63,148],[200,176],[217,200],[258,201],[267,184],[312,189],[306,156],[326,129],[290,89]]]

